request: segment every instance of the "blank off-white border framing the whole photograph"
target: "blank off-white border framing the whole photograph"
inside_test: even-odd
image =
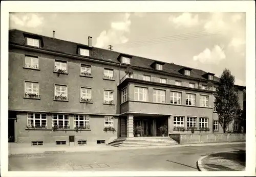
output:
[[[61,5],[61,6],[60,6]],[[9,12],[246,12],[246,171],[238,172],[7,172]],[[254,1],[3,1],[1,2],[2,176],[253,176],[255,175],[255,2]],[[196,163],[196,162],[195,162]]]

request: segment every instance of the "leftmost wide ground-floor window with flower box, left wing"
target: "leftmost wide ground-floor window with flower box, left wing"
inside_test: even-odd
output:
[[[28,128],[47,128],[47,116],[40,113],[28,113]]]

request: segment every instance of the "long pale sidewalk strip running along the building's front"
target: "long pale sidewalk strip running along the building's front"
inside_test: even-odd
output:
[[[148,148],[173,148],[173,147],[189,147],[189,146],[209,146],[224,144],[245,144],[245,142],[226,142],[226,143],[197,143],[183,145],[160,145],[160,146],[137,146],[137,147],[114,147],[110,145],[84,145],[84,146],[9,146],[9,156],[12,155],[31,155],[31,154],[52,154],[52,153],[75,153],[86,151],[107,151],[107,150],[129,150],[129,149],[148,149]]]

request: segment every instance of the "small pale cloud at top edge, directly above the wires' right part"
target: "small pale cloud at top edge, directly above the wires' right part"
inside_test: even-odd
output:
[[[169,21],[172,21],[176,27],[193,27],[193,26],[197,26],[199,24],[199,19],[198,19],[198,14],[191,14],[191,13],[187,13],[184,12],[183,14],[181,14],[180,16],[169,16]]]

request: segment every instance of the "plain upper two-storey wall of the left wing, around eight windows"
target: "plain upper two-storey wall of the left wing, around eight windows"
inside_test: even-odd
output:
[[[40,70],[25,69],[24,54],[39,56]],[[67,61],[68,73],[54,73],[54,59]],[[80,76],[80,64],[92,65],[92,77]],[[114,69],[115,81],[103,79],[103,68]],[[24,97],[24,81],[39,82],[40,99],[26,99]],[[97,82],[95,82],[97,81]],[[119,81],[118,67],[106,66],[82,60],[72,60],[63,57],[25,52],[13,49],[9,52],[9,109],[62,111],[82,113],[119,113],[119,96],[117,82]],[[68,102],[54,101],[54,84],[68,86]],[[93,104],[80,103],[80,87],[92,88]],[[114,91],[114,106],[103,105],[103,90]]]

